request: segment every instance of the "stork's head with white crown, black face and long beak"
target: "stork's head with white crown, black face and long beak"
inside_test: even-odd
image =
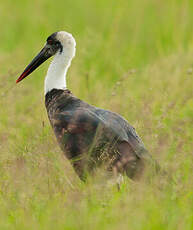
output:
[[[72,59],[76,51],[76,42],[70,33],[65,31],[55,32],[51,34],[46,41],[45,46],[39,52],[39,54],[31,61],[26,67],[24,72],[17,79],[16,83],[27,77],[38,66],[45,62],[48,58],[54,55],[64,55]]]

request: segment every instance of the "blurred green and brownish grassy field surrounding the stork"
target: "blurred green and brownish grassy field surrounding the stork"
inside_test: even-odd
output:
[[[1,1],[1,230],[193,229],[192,25],[192,0]],[[123,115],[172,180],[79,181],[47,119],[49,61],[15,84],[58,30],[77,41],[68,88]]]

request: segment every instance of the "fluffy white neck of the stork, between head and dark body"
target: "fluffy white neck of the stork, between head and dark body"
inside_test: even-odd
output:
[[[75,48],[56,53],[45,78],[45,95],[52,89],[66,89],[66,73],[74,56]]]

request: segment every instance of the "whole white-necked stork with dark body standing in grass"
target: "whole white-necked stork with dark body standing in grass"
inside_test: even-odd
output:
[[[66,74],[75,51],[70,33],[53,33],[16,83],[54,56],[45,77],[45,105],[57,141],[78,176],[84,180],[105,165],[113,174],[138,178],[151,155],[135,129],[117,113],[89,105],[67,89]]]

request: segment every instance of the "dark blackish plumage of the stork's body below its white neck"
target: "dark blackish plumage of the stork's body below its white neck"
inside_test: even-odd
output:
[[[141,175],[150,156],[124,118],[81,101],[69,90],[53,89],[45,104],[58,143],[80,178],[101,164],[130,178]]]

